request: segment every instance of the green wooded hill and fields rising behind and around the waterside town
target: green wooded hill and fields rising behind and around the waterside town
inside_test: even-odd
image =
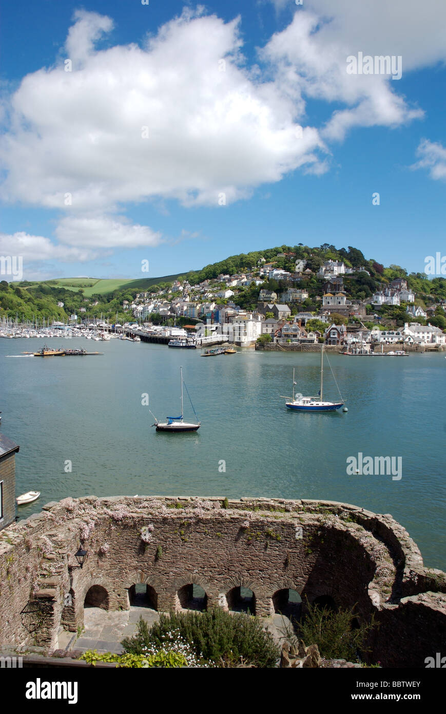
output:
[[[21,283],[0,282],[0,318],[8,316],[19,320],[24,318],[57,319],[64,321],[76,313],[78,316],[93,318],[101,315],[113,322],[118,316],[118,321],[131,318],[128,311],[123,311],[123,301],[131,302],[138,292],[156,292],[171,286],[177,278],[187,278],[192,286],[205,280],[213,280],[220,273],[234,275],[247,273],[250,268],[257,266],[263,258],[267,263],[273,263],[276,268],[285,271],[294,271],[295,259],[300,258],[305,265],[313,271],[313,275],[305,280],[305,288],[309,297],[302,304],[303,308],[317,311],[320,302],[317,297],[322,294],[323,280],[316,277],[318,268],[323,261],[333,259],[343,261],[346,266],[357,268],[353,275],[344,276],[344,287],[347,296],[356,300],[365,300],[380,288],[382,283],[389,283],[394,278],[406,278],[408,286],[417,293],[417,304],[430,304],[440,298],[446,298],[445,278],[429,280],[425,273],[407,274],[405,268],[391,265],[385,268],[374,259],[365,258],[358,248],[336,248],[324,243],[322,246],[310,248],[299,243],[297,246],[277,246],[265,248],[251,253],[239,253],[230,256],[218,263],[211,263],[200,271],[187,271],[175,275],[161,276],[158,278],[56,278],[47,281],[23,281]],[[364,268],[360,271],[360,268]],[[368,274],[369,273],[369,274]],[[280,291],[287,287],[286,281],[268,281],[265,286],[270,290]],[[260,286],[252,284],[248,288],[238,291],[236,301],[245,309],[254,309],[260,292]],[[58,306],[57,303],[64,303]],[[81,311],[81,308],[82,311]],[[296,306],[293,306],[295,309]],[[375,308],[368,306],[368,310]],[[383,306],[383,313],[388,313],[389,318],[399,321],[407,319],[405,304],[400,307]]]

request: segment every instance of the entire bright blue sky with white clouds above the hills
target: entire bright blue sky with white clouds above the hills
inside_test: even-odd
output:
[[[333,243],[422,272],[445,252],[446,8],[360,5],[5,4],[0,254],[140,278]],[[358,52],[401,79],[348,75]]]

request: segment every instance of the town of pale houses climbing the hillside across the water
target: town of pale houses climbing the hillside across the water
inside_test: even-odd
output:
[[[278,253],[277,258],[289,263],[293,253]],[[172,336],[195,333],[198,340],[212,334],[241,346],[256,342],[325,342],[330,346],[446,343],[442,328],[430,323],[430,318],[445,314],[446,300],[423,308],[405,278],[382,283],[370,297],[354,298],[344,281],[346,277],[361,280],[370,276],[364,266],[352,267],[329,259],[315,271],[308,261],[298,258],[294,271],[287,271],[277,263],[260,258],[248,271],[221,273],[195,285],[178,279],[155,293],[136,293],[133,301],[123,301],[123,310],[129,316],[128,323],[133,316],[151,331],[162,330]],[[254,309],[238,304],[238,296],[247,290],[258,291]],[[404,326],[397,327],[383,306],[404,308]],[[154,318],[158,326],[152,324]],[[171,327],[169,332],[168,326],[175,325],[178,318],[182,318],[184,329]],[[184,318],[191,324],[185,326]]]

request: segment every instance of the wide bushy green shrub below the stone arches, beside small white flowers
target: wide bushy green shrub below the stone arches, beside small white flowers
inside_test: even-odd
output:
[[[205,613],[161,614],[150,630],[140,618],[136,635],[121,644],[126,652],[142,655],[152,648],[165,648],[173,638],[186,643],[199,661],[213,666],[243,662],[261,668],[275,667],[278,660],[273,636],[263,629],[258,618],[241,613],[231,615],[221,608]]]

